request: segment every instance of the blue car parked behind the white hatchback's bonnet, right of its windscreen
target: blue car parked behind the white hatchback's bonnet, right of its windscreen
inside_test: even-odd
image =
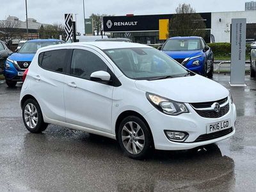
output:
[[[213,53],[202,37],[175,36],[169,38],[161,47],[161,51],[189,70],[205,77],[212,77]]]

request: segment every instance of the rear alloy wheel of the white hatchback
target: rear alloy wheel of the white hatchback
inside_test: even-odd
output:
[[[34,129],[38,122],[38,112],[36,107],[28,103],[24,110],[24,119],[29,128]]]

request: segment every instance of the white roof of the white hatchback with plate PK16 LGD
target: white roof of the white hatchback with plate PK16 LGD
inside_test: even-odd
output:
[[[47,47],[40,48],[40,51],[43,51],[44,49],[54,48],[54,47],[70,47],[70,46],[81,46],[81,47],[87,47],[87,46],[93,46],[97,47],[102,50],[106,49],[122,49],[122,48],[132,48],[132,47],[149,47],[148,45],[143,44],[136,44],[136,43],[130,43],[130,42],[77,42],[77,43],[71,43],[71,44],[60,44],[60,45],[50,45]],[[154,49],[154,48],[152,48]]]

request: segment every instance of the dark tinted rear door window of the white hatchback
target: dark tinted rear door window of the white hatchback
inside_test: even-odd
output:
[[[46,70],[64,72],[66,67],[66,54],[67,49],[42,52],[39,54],[38,64]]]

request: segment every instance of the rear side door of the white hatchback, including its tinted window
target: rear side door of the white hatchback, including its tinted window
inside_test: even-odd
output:
[[[42,113],[50,120],[65,122],[63,99],[64,76],[68,49],[45,51],[38,56],[36,68],[31,66],[31,87],[38,99]],[[30,69],[30,68],[29,68]]]

